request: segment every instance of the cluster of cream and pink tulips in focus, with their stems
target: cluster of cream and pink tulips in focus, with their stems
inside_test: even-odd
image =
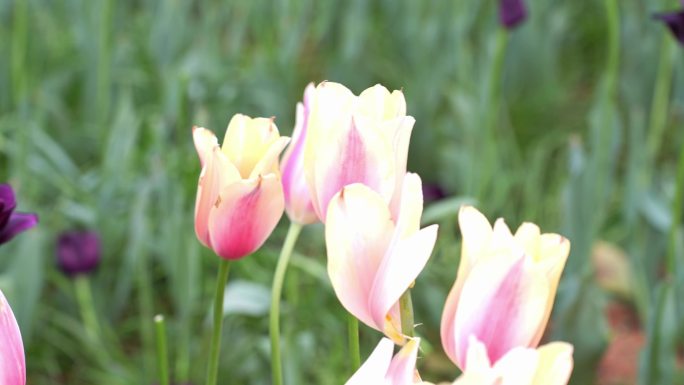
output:
[[[223,146],[211,131],[193,129],[202,164],[195,230],[223,259],[217,297],[227,261],[258,249],[283,211],[290,218],[274,278],[274,384],[282,383],[277,320],[287,260],[301,227],[317,221],[325,226],[330,282],[354,317],[351,330],[360,320],[386,336],[347,384],[428,384],[416,371],[420,339],[410,290],[432,254],[438,226],[420,228],[421,179],[406,171],[414,123],[401,91],[376,85],[356,96],[323,82],[309,85],[297,105],[292,141],[280,137],[273,119],[244,115],[232,118]],[[463,371],[455,384],[566,384],[572,346],[538,345],[569,241],[541,234],[532,223],[515,233],[502,219],[492,226],[470,206],[461,208],[458,221],[462,254],[441,326],[444,350]],[[218,355],[220,314],[215,319],[212,351]],[[392,357],[395,345],[401,349]],[[213,360],[209,377],[215,381]]]

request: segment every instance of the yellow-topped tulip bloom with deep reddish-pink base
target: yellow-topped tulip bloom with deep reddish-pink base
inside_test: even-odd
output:
[[[283,214],[278,157],[289,138],[272,119],[237,114],[222,147],[202,127],[193,128],[193,139],[202,164],[197,238],[222,258],[242,258],[261,247]]]

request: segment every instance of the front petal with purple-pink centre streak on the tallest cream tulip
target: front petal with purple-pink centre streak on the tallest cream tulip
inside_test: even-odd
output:
[[[363,183],[390,201],[395,184],[392,150],[377,132],[351,120],[346,130],[330,133],[319,145],[312,196],[319,218],[325,219],[330,199],[352,183]]]

